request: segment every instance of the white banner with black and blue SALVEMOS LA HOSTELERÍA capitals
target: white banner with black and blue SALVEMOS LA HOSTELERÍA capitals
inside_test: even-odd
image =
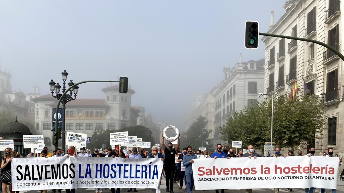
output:
[[[160,158],[111,157],[14,158],[12,190],[64,188],[157,189],[163,161]]]

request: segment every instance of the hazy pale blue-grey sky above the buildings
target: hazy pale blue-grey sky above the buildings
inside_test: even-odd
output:
[[[239,52],[244,62],[264,57],[262,42],[245,49],[244,22],[267,32],[271,10],[277,22],[284,2],[1,0],[1,70],[11,71],[12,90],[37,85],[41,94],[50,79],[61,84],[64,69],[74,82],[127,76],[132,105],[182,128],[191,101],[223,80]],[[105,86],[82,84],[78,98],[105,99]]]

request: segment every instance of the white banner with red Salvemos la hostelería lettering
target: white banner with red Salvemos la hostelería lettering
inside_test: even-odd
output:
[[[196,190],[337,188],[339,159],[295,156],[194,159]]]

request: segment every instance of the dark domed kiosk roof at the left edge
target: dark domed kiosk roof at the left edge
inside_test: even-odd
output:
[[[19,136],[22,136],[23,134],[30,135],[32,133],[29,127],[18,122],[17,120],[5,125],[3,128],[0,128],[0,135],[3,137],[10,137],[13,135],[18,136],[16,134],[19,134]]]

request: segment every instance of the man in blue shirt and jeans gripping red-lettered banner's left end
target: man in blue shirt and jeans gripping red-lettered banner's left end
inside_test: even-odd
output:
[[[194,185],[192,174],[193,159],[197,159],[195,154],[192,154],[192,147],[187,146],[187,155],[183,157],[183,166],[185,166],[185,178],[186,178],[186,190],[187,193],[191,193]]]

